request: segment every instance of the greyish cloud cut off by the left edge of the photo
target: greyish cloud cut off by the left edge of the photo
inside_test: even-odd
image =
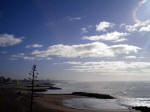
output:
[[[16,38],[12,34],[0,34],[0,47],[13,46],[21,43],[23,38]]]

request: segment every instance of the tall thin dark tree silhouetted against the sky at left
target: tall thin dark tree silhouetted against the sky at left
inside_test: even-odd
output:
[[[38,76],[37,72],[37,66],[33,65],[31,72],[29,73],[31,76],[31,104],[30,104],[30,112],[32,112],[32,107],[33,107],[33,100],[34,100],[34,86],[35,86],[35,79]]]

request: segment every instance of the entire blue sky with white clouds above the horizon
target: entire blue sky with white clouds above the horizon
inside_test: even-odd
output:
[[[1,0],[0,75],[150,80],[149,0]]]

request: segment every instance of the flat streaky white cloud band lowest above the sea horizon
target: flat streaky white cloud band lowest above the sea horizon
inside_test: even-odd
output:
[[[71,68],[68,68],[66,70],[77,72],[145,72],[150,69],[150,62],[101,61],[66,63],[72,65]]]

